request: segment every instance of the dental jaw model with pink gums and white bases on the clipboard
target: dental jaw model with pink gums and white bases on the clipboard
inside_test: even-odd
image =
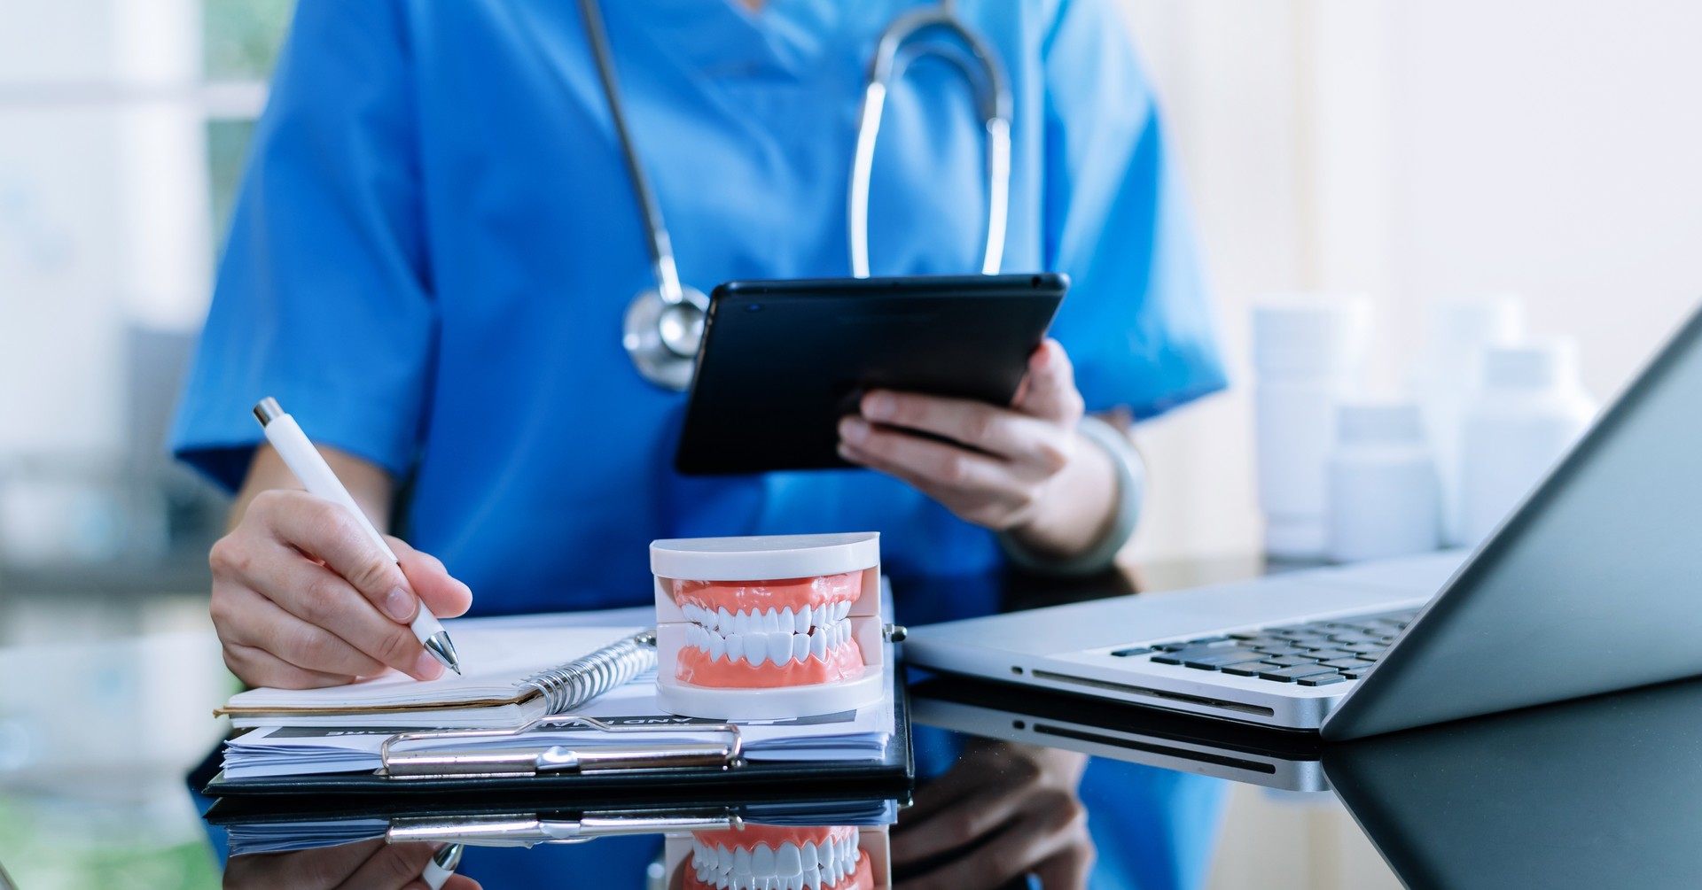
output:
[[[654,541],[650,570],[667,711],[776,720],[885,693],[878,533]]]

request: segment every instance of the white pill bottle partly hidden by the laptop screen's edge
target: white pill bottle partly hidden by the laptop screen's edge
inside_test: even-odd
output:
[[[1596,403],[1569,339],[1489,347],[1460,431],[1464,543],[1477,545],[1590,427]]]

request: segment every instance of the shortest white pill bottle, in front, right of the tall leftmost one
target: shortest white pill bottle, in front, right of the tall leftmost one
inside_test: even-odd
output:
[[[1442,482],[1418,403],[1338,407],[1328,487],[1331,562],[1436,550]]]

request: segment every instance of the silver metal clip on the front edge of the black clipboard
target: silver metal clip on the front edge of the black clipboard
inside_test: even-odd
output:
[[[432,747],[398,750],[395,745],[446,739],[504,739],[540,727],[582,725],[596,730],[591,744],[548,744],[502,747]],[[608,735],[717,733],[722,740],[665,742],[647,739],[628,745],[608,744]],[[514,730],[402,732],[378,749],[381,776],[397,779],[473,779],[497,776],[545,776],[551,773],[626,773],[633,769],[732,769],[744,761],[744,739],[732,723],[684,723],[671,727],[616,727],[591,716],[541,716]]]

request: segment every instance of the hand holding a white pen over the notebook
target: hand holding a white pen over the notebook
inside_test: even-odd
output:
[[[250,473],[266,490],[209,556],[225,664],[248,684],[279,687],[334,686],[386,667],[441,676],[453,643],[437,636],[436,616],[466,611],[468,587],[431,555],[381,536],[276,402],[255,415],[276,448],[262,449]],[[340,471],[371,500],[351,463]],[[291,476],[308,490],[288,488]]]

